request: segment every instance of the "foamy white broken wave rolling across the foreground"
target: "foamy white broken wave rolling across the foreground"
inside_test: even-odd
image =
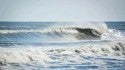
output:
[[[125,43],[86,44],[75,46],[29,47],[15,45],[11,48],[0,47],[0,65],[23,63],[85,63],[86,57],[123,59]],[[113,58],[112,58],[113,57]]]

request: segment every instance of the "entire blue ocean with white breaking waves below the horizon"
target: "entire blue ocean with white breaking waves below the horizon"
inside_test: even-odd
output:
[[[0,22],[0,70],[125,70],[125,22]]]

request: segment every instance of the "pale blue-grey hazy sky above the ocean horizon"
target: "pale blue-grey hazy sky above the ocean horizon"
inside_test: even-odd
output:
[[[0,0],[0,21],[125,21],[125,0]]]

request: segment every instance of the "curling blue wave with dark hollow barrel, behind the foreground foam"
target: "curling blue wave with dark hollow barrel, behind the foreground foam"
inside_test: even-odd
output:
[[[105,23],[54,23],[44,29],[35,30],[0,30],[2,40],[8,39],[13,41],[16,37],[22,39],[32,38],[37,40],[88,40],[100,39],[102,34],[107,31]]]

